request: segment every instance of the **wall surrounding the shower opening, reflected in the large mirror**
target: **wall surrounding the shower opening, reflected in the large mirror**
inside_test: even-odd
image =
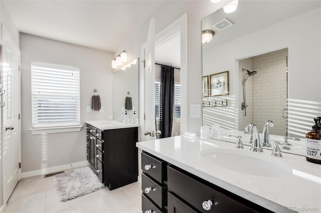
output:
[[[304,30],[302,29],[304,26]],[[302,29],[298,31],[298,29]],[[271,52],[282,47],[289,48],[289,132],[290,136],[304,137],[311,129],[313,117],[321,112],[321,20],[320,8],[285,20],[263,30],[205,51],[203,59],[212,58],[203,64],[204,70],[212,73],[230,71],[230,97],[238,99],[239,73],[235,72],[236,59]],[[255,44],[255,45],[254,45]],[[212,74],[204,73],[204,75]],[[302,83],[304,85],[302,85]],[[302,85],[302,86],[298,86]],[[241,92],[241,91],[240,91]],[[236,103],[238,100],[236,100]],[[293,110],[298,104],[301,110]],[[235,106],[231,106],[232,108]],[[300,106],[302,107],[302,106]],[[222,119],[235,123],[234,116]],[[292,131],[292,130],[293,131]],[[301,131],[301,134],[294,133]]]

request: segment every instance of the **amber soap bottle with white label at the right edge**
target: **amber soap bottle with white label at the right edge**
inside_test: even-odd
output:
[[[305,159],[312,163],[321,164],[321,126],[320,118],[314,118],[312,130],[305,135]]]

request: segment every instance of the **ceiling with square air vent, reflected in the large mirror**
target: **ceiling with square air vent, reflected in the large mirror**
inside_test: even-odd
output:
[[[213,48],[320,6],[319,0],[241,0],[234,13],[226,14],[220,9],[202,20],[202,30],[212,30],[215,33],[212,41],[203,44],[202,47],[204,50]],[[233,25],[222,31],[216,30],[212,25],[223,19],[227,19]],[[304,30],[304,26],[298,29],[298,33],[300,30]]]

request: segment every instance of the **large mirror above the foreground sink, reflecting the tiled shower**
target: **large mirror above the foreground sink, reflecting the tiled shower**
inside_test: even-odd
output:
[[[226,107],[203,107],[203,125],[244,131],[253,122],[262,133],[270,119],[270,134],[305,137],[321,114],[319,7],[320,1],[239,1],[234,13],[220,9],[202,20],[202,31],[215,33],[202,44],[203,76],[229,70],[229,95],[203,93],[203,102],[227,99]]]

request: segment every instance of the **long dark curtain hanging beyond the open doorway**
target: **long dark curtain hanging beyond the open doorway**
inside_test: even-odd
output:
[[[159,130],[162,134],[159,138],[172,136],[173,109],[175,96],[174,68],[162,66],[161,73],[161,94],[160,94],[160,121]]]

